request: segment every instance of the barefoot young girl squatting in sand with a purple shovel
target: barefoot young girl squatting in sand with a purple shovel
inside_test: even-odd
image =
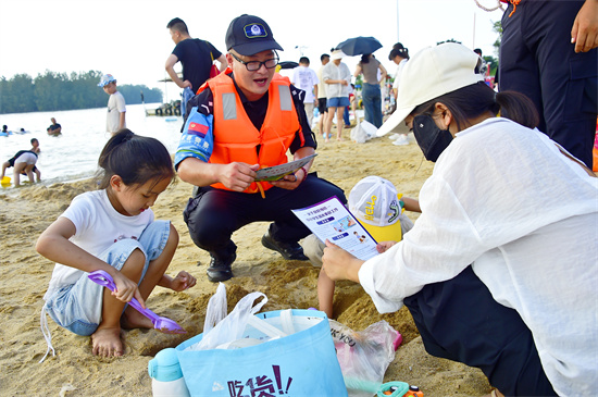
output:
[[[157,139],[121,129],[103,148],[98,164],[99,190],[75,197],[37,241],[36,250],[57,262],[41,322],[45,331],[46,311],[60,326],[91,335],[94,355],[122,356],[121,327],[153,327],[132,307],[123,311],[125,303],[135,297],[145,307],[155,285],[180,291],[196,280],[187,272],[174,278],[164,274],[178,234],[169,221],[154,221],[150,207],[175,176],[166,148]],[[96,270],[112,276],[116,291],[87,277]],[[47,340],[48,351],[53,351],[49,336]]]

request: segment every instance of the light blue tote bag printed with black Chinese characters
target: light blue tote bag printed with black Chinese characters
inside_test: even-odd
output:
[[[254,318],[232,343],[238,348],[189,350],[203,334],[176,347],[191,396],[347,396],[325,313],[289,309]]]

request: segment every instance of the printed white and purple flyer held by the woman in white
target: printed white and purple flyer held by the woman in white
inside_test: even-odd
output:
[[[336,196],[292,213],[322,241],[328,239],[356,258],[367,260],[378,255],[377,243]]]

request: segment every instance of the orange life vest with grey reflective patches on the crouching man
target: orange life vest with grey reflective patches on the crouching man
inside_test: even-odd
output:
[[[214,148],[210,163],[228,164],[237,161],[260,164],[261,169],[286,163],[287,150],[298,132],[301,134],[301,144],[304,141],[288,78],[277,73],[274,75],[267,89],[267,111],[258,131],[247,115],[228,74],[229,70],[207,82],[214,99]],[[212,187],[229,190],[221,183]],[[271,187],[267,182],[254,182],[245,193],[267,190]]]

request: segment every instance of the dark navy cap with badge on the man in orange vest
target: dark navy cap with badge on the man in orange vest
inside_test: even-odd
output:
[[[259,16],[242,14],[228,25],[226,50],[234,49],[241,55],[254,55],[265,50],[283,50],[270,26]]]

